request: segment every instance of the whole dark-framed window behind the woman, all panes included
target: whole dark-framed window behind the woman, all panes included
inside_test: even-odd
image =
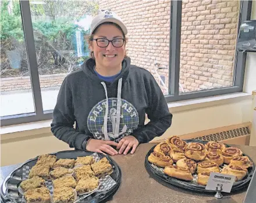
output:
[[[152,73],[167,102],[243,90],[246,53],[236,41],[250,1],[5,0],[2,126],[51,119],[63,79],[89,57],[86,37],[99,9],[123,19],[131,63]],[[14,27],[2,29],[8,17]]]

